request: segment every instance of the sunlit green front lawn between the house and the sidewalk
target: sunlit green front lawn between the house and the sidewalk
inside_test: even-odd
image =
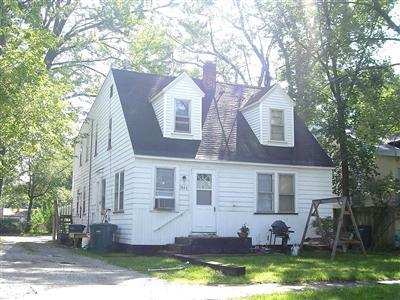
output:
[[[262,282],[306,283],[318,281],[375,281],[400,279],[400,255],[397,253],[339,254],[334,261],[327,252],[304,252],[292,257],[283,254],[204,256],[207,260],[246,267],[246,275],[224,276],[206,267],[190,265],[183,270],[148,272],[149,268],[169,268],[184,264],[161,256],[138,256],[123,253],[86,255],[153,276],[202,284],[247,284]]]

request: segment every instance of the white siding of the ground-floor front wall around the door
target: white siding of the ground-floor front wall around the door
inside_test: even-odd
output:
[[[155,169],[175,169],[175,209],[155,210]],[[177,236],[192,234],[191,213],[196,201],[196,170],[213,174],[213,205],[216,234],[236,236],[244,224],[250,227],[253,244],[266,243],[266,228],[277,219],[295,231],[291,242],[299,243],[310,210],[311,200],[332,196],[332,174],[329,168],[269,166],[262,164],[218,163],[180,159],[143,158],[136,156],[133,198],[132,243],[160,245],[173,243]],[[207,172],[207,170],[210,170]],[[257,174],[274,174],[274,213],[257,214]],[[279,213],[278,175],[295,174],[295,211]],[[184,181],[185,178],[185,181]],[[321,207],[321,216],[330,216],[332,207]]]

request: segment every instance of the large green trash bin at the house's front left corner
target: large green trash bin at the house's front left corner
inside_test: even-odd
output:
[[[117,225],[97,223],[90,225],[89,249],[96,252],[110,252],[115,249]]]

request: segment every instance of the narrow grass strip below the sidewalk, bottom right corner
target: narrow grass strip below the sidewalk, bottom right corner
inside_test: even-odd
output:
[[[307,290],[284,294],[261,295],[246,300],[383,300],[400,299],[400,285],[374,285],[354,288]]]

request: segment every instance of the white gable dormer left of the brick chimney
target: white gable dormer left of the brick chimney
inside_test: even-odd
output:
[[[166,138],[201,140],[204,92],[186,73],[175,78],[150,102]]]

